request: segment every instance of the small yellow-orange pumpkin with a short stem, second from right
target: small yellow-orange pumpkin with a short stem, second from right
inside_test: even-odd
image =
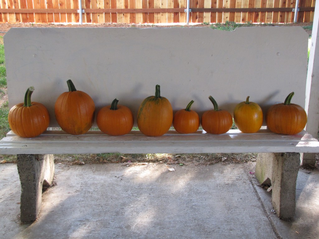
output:
[[[256,133],[263,124],[263,111],[254,102],[249,102],[249,96],[235,106],[234,121],[243,133]]]

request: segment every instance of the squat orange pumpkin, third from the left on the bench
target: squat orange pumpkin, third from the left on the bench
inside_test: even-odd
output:
[[[123,135],[129,133],[133,127],[133,113],[128,107],[118,105],[118,102],[115,98],[111,105],[103,107],[97,114],[96,123],[105,134]]]

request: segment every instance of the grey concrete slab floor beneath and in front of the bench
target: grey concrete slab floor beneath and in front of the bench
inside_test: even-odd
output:
[[[281,221],[254,164],[56,164],[37,221],[19,222],[15,164],[0,165],[0,238],[319,238],[319,172],[300,170],[296,216]]]

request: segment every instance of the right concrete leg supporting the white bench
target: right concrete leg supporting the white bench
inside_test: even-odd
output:
[[[271,183],[272,206],[283,220],[295,214],[299,165],[299,153],[263,153],[257,157],[256,177],[261,184]]]

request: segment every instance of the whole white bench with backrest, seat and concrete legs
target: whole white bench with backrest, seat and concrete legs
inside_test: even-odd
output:
[[[136,117],[144,98],[160,84],[174,112],[193,99],[200,115],[212,108],[233,112],[246,99],[263,112],[295,92],[292,103],[305,105],[308,35],[301,27],[251,27],[234,32],[209,28],[12,28],[4,37],[10,107],[23,101],[29,86],[32,100],[47,106],[51,123],[56,98],[76,88],[94,100],[96,112],[114,98]],[[292,46],[298,46],[293,48]],[[135,121],[136,122],[136,121]],[[148,137],[139,131],[108,136],[100,131],[70,135],[48,130],[25,139],[9,132],[1,154],[18,155],[22,185],[21,221],[34,221],[41,208],[41,189],[54,176],[53,154],[89,153],[261,153],[271,160],[272,203],[282,219],[293,217],[300,153],[319,152],[319,143],[303,131],[255,134],[230,130],[212,135],[169,131]],[[264,160],[263,160],[264,161]],[[260,168],[260,167],[259,167]],[[263,170],[260,170],[263,173]],[[265,175],[264,175],[265,176]],[[266,177],[265,176],[265,177]]]

